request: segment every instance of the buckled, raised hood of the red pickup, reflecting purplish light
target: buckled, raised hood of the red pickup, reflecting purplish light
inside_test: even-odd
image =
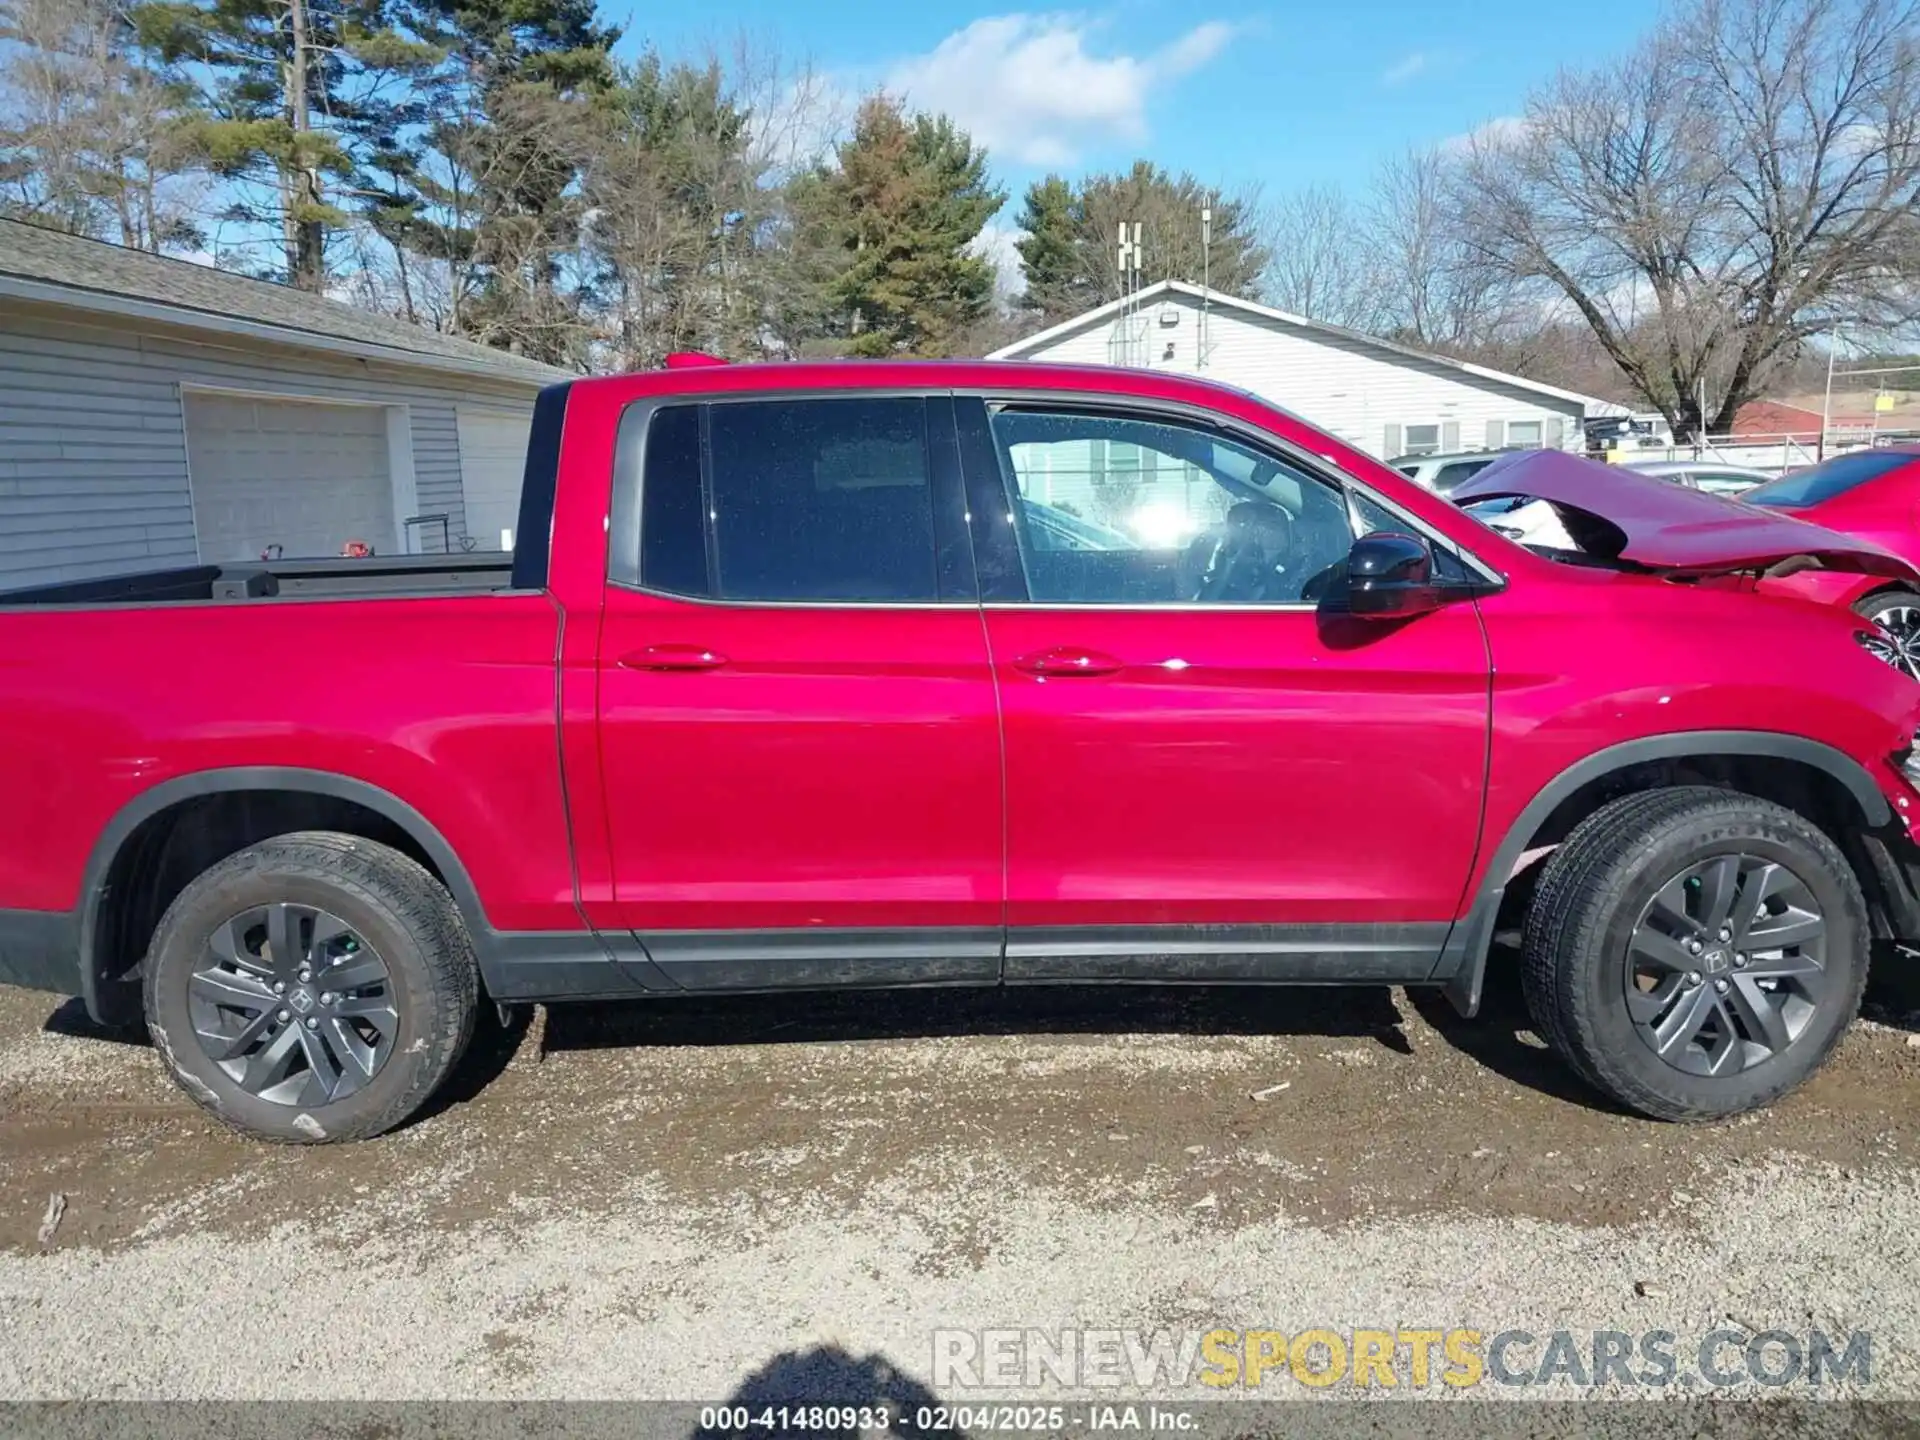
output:
[[[1498,459],[1453,490],[1452,499],[1471,505],[1501,495],[1548,501],[1572,541],[1594,559],[1665,574],[1734,574],[1786,563],[1795,563],[1789,568],[1916,574],[1899,555],[1872,541],[1557,449]]]

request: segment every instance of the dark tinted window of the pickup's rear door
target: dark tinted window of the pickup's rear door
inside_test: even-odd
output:
[[[925,405],[668,405],[647,426],[639,530],[649,589],[737,601],[939,599]]]

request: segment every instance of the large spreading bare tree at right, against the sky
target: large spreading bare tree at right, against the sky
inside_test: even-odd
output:
[[[1492,276],[1571,301],[1680,434],[1812,336],[1920,315],[1912,0],[1695,0],[1563,73],[1450,188]]]

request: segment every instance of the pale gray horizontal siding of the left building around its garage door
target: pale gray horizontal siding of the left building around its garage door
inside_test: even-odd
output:
[[[405,405],[419,513],[445,511],[455,545],[455,405],[534,401],[532,386],[0,303],[0,589],[194,563],[182,384]]]

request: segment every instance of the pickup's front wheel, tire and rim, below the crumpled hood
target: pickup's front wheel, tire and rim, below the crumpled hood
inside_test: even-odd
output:
[[[1812,1075],[1860,1008],[1866,900],[1828,835],[1709,787],[1596,810],[1526,914],[1534,1025],[1655,1119],[1755,1110]]]

